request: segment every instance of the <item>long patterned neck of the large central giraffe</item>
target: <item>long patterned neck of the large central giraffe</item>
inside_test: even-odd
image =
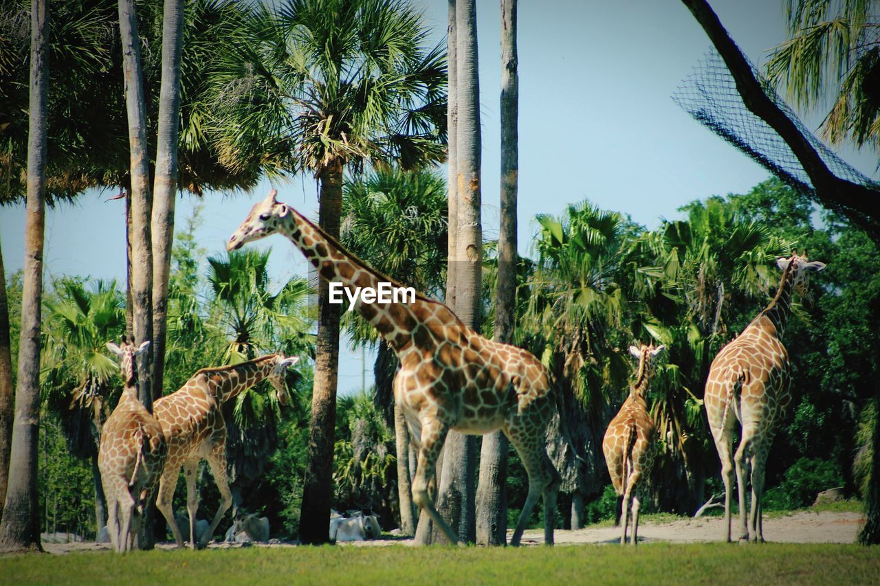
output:
[[[290,213],[280,218],[279,231],[299,248],[306,260],[319,270],[320,275],[328,282],[341,282],[349,293],[357,288],[378,289],[379,283],[391,283],[392,287],[402,287],[400,283],[381,275],[368,267],[362,260],[348,253],[334,238],[297,210],[288,207]],[[347,301],[349,297],[344,297]],[[431,301],[416,292],[413,297],[404,297],[406,303],[392,300],[390,303],[363,303],[361,297],[352,302],[352,309],[360,313],[371,326],[376,327],[379,335],[396,352],[405,348],[412,340],[414,327],[422,321],[420,316],[434,313]],[[451,311],[450,311],[451,314]],[[458,321],[456,318],[453,319]]]

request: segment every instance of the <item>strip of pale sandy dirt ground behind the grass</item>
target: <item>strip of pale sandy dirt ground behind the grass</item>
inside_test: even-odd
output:
[[[734,537],[737,536],[734,519]],[[764,538],[770,542],[782,543],[853,543],[859,524],[862,522],[861,513],[853,512],[813,512],[803,510],[789,516],[778,516],[764,519]],[[720,541],[724,531],[724,520],[719,517],[702,517],[699,519],[680,519],[670,523],[652,523],[650,521],[639,524],[639,543],[665,541],[670,543],[693,543],[699,541]],[[556,530],[557,545],[576,544],[611,544],[620,540],[620,529],[609,526],[591,526],[578,531]],[[544,531],[529,530],[523,536],[523,545],[533,546],[544,543]],[[389,546],[401,545],[412,546],[414,542],[410,538],[376,539],[372,541],[360,541],[343,546]],[[213,543],[211,548],[241,547],[241,544]],[[282,542],[273,539],[268,544],[254,544],[257,547],[290,547],[295,543]],[[68,544],[43,543],[43,547],[49,553],[69,553],[83,551],[108,550],[109,544],[96,544],[91,542],[77,542]],[[159,549],[172,549],[172,543],[162,543]]]

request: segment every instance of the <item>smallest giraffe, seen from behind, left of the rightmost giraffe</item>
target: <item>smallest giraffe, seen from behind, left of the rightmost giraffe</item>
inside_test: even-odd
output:
[[[620,407],[620,412],[614,416],[608,429],[605,431],[605,439],[602,441],[602,451],[605,453],[605,464],[611,474],[614,491],[621,499],[620,517],[623,523],[623,534],[620,536],[620,544],[627,543],[627,524],[630,502],[633,508],[633,545],[636,544],[636,534],[639,530],[639,501],[640,489],[644,486],[642,480],[648,480],[651,467],[654,465],[654,421],[648,413],[648,404],[645,403],[645,392],[648,383],[654,374],[654,360],[663,352],[665,346],[654,345],[636,348],[629,347],[630,354],[639,359],[639,369],[635,373],[635,382],[629,388],[629,396]]]

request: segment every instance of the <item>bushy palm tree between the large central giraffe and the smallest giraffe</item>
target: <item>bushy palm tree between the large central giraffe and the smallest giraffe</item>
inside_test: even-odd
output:
[[[561,217],[538,216],[536,267],[523,316],[524,337],[553,371],[560,394],[560,421],[579,455],[557,437],[551,458],[572,494],[575,522],[583,497],[598,494],[601,430],[610,420],[615,392],[630,373],[627,348],[634,339],[631,291],[626,262],[632,227],[620,215],[589,202],[570,205]],[[584,465],[584,458],[588,465]],[[592,459],[590,459],[592,458]]]

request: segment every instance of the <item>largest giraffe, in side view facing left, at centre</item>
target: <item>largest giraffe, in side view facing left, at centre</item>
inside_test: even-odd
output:
[[[348,253],[295,209],[275,201],[275,190],[253,207],[226,247],[238,249],[276,232],[290,238],[321,276],[341,282],[346,289],[378,289],[379,282],[392,282]],[[436,459],[450,429],[466,434],[502,429],[529,475],[529,493],[510,545],[519,545],[541,494],[545,543],[552,545],[553,511],[561,480],[546,455],[545,433],[554,413],[554,390],[539,360],[521,348],[487,340],[465,326],[444,304],[422,295],[416,295],[409,304],[378,300],[365,304],[358,297],[354,309],[376,327],[400,360],[400,370],[394,377],[394,400],[403,408],[418,450],[413,501],[451,543],[458,543],[428,494]]]

